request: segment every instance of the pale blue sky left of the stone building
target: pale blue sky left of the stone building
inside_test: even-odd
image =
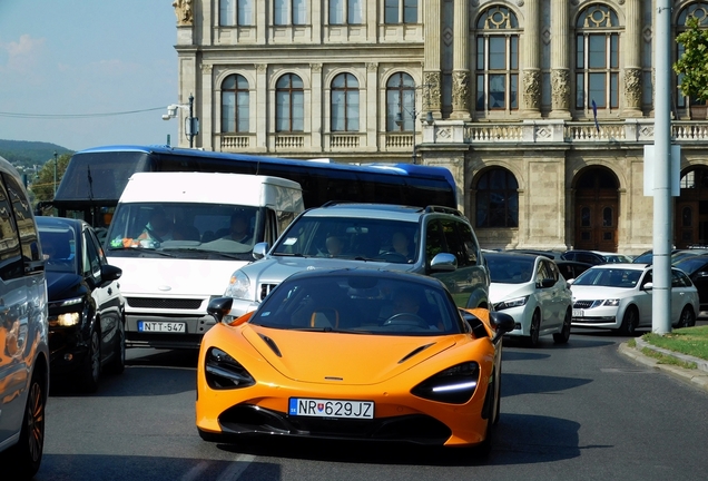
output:
[[[177,145],[173,0],[0,0],[0,139]]]

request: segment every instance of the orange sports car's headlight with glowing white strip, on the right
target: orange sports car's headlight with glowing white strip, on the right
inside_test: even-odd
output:
[[[464,404],[472,399],[480,380],[480,365],[466,362],[439,372],[411,390],[411,394],[431,401]]]

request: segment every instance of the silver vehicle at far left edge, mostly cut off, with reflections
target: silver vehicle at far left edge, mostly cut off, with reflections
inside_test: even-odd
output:
[[[45,449],[47,282],[20,175],[1,157],[0,174],[0,465],[2,479],[29,479]]]

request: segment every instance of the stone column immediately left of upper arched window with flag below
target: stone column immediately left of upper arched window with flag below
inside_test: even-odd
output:
[[[571,118],[568,3],[568,0],[551,0],[551,118]]]

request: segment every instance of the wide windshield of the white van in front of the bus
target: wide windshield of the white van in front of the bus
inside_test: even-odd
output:
[[[219,253],[252,259],[263,213],[257,207],[226,204],[120,204],[107,235],[110,254],[163,251]]]

